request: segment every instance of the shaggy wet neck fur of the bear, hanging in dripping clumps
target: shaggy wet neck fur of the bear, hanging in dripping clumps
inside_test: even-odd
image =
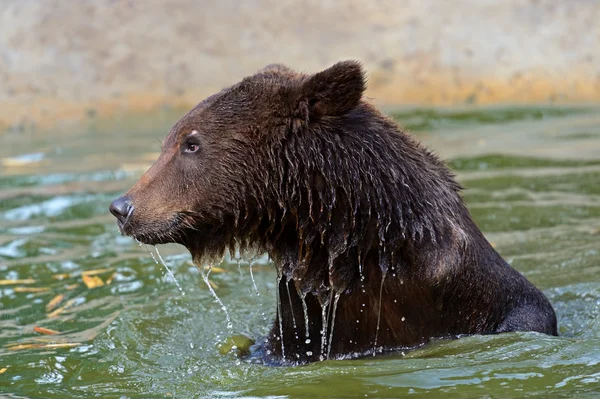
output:
[[[478,231],[446,165],[367,104],[283,134],[267,146],[281,155],[266,157],[277,173],[258,236],[304,292],[347,287],[367,258],[386,272]]]

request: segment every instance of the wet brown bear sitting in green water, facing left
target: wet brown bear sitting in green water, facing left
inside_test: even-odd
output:
[[[183,116],[110,211],[124,234],[199,262],[267,252],[278,306],[255,355],[270,364],[556,335],[549,301],[487,242],[446,165],[364,90],[354,61],[267,66]]]

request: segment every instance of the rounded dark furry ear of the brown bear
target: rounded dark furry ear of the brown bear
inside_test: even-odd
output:
[[[338,62],[303,81],[296,114],[307,120],[343,115],[360,103],[365,87],[358,61]]]

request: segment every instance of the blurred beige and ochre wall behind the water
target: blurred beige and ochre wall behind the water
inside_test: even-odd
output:
[[[0,129],[189,107],[361,60],[381,104],[600,100],[596,0],[0,0]]]

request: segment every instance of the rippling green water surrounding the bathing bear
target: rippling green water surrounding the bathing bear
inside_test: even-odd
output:
[[[159,151],[178,117],[165,112],[151,120],[90,120],[81,129],[0,135],[0,280],[31,279],[0,285],[0,371],[6,369],[0,392],[10,398],[600,397],[600,112],[491,108],[396,116],[450,161],[488,239],[554,304],[560,337],[475,336],[405,356],[296,368],[219,354],[228,337],[266,333],[276,307],[273,268],[259,259],[254,283],[247,262],[210,275],[231,316],[229,329],[182,247],[160,251],[185,295],[146,247],[120,236],[107,210]],[[85,271],[110,284],[86,287]],[[32,288],[42,291],[27,292]],[[47,310],[60,294],[59,311]]]

